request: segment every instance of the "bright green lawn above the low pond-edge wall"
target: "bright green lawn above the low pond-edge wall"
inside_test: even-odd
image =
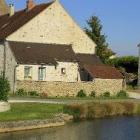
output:
[[[63,112],[63,105],[39,103],[11,104],[11,110],[0,113],[0,121],[50,119]]]

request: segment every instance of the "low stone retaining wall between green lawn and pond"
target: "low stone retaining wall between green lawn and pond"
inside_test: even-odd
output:
[[[0,123],[0,133],[32,130],[39,128],[58,127],[65,125],[66,122],[73,120],[73,116],[67,114],[58,114],[53,119],[46,120],[25,120],[9,121]]]

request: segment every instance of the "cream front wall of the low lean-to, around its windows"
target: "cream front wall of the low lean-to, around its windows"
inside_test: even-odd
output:
[[[38,79],[38,72],[39,67],[41,65],[19,65],[16,69],[16,77],[17,80],[25,80],[24,79],[24,67],[30,66],[31,67],[31,79],[32,81],[39,81]],[[78,72],[78,64],[72,62],[58,62],[57,66],[48,65],[43,66],[46,68],[46,78],[44,81],[63,81],[63,82],[77,82],[79,79],[79,72]],[[62,74],[62,69],[65,69],[65,74]]]

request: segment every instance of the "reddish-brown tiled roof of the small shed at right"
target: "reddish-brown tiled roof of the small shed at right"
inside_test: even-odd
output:
[[[84,68],[93,78],[123,79],[123,75],[115,67],[106,65],[85,65]]]

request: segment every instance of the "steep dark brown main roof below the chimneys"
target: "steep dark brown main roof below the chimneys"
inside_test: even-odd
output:
[[[13,16],[9,16],[9,14],[0,16],[0,40],[5,39],[10,34],[18,30],[40,12],[49,7],[52,3],[53,2],[36,5],[33,9],[29,11],[24,9],[15,12]]]

